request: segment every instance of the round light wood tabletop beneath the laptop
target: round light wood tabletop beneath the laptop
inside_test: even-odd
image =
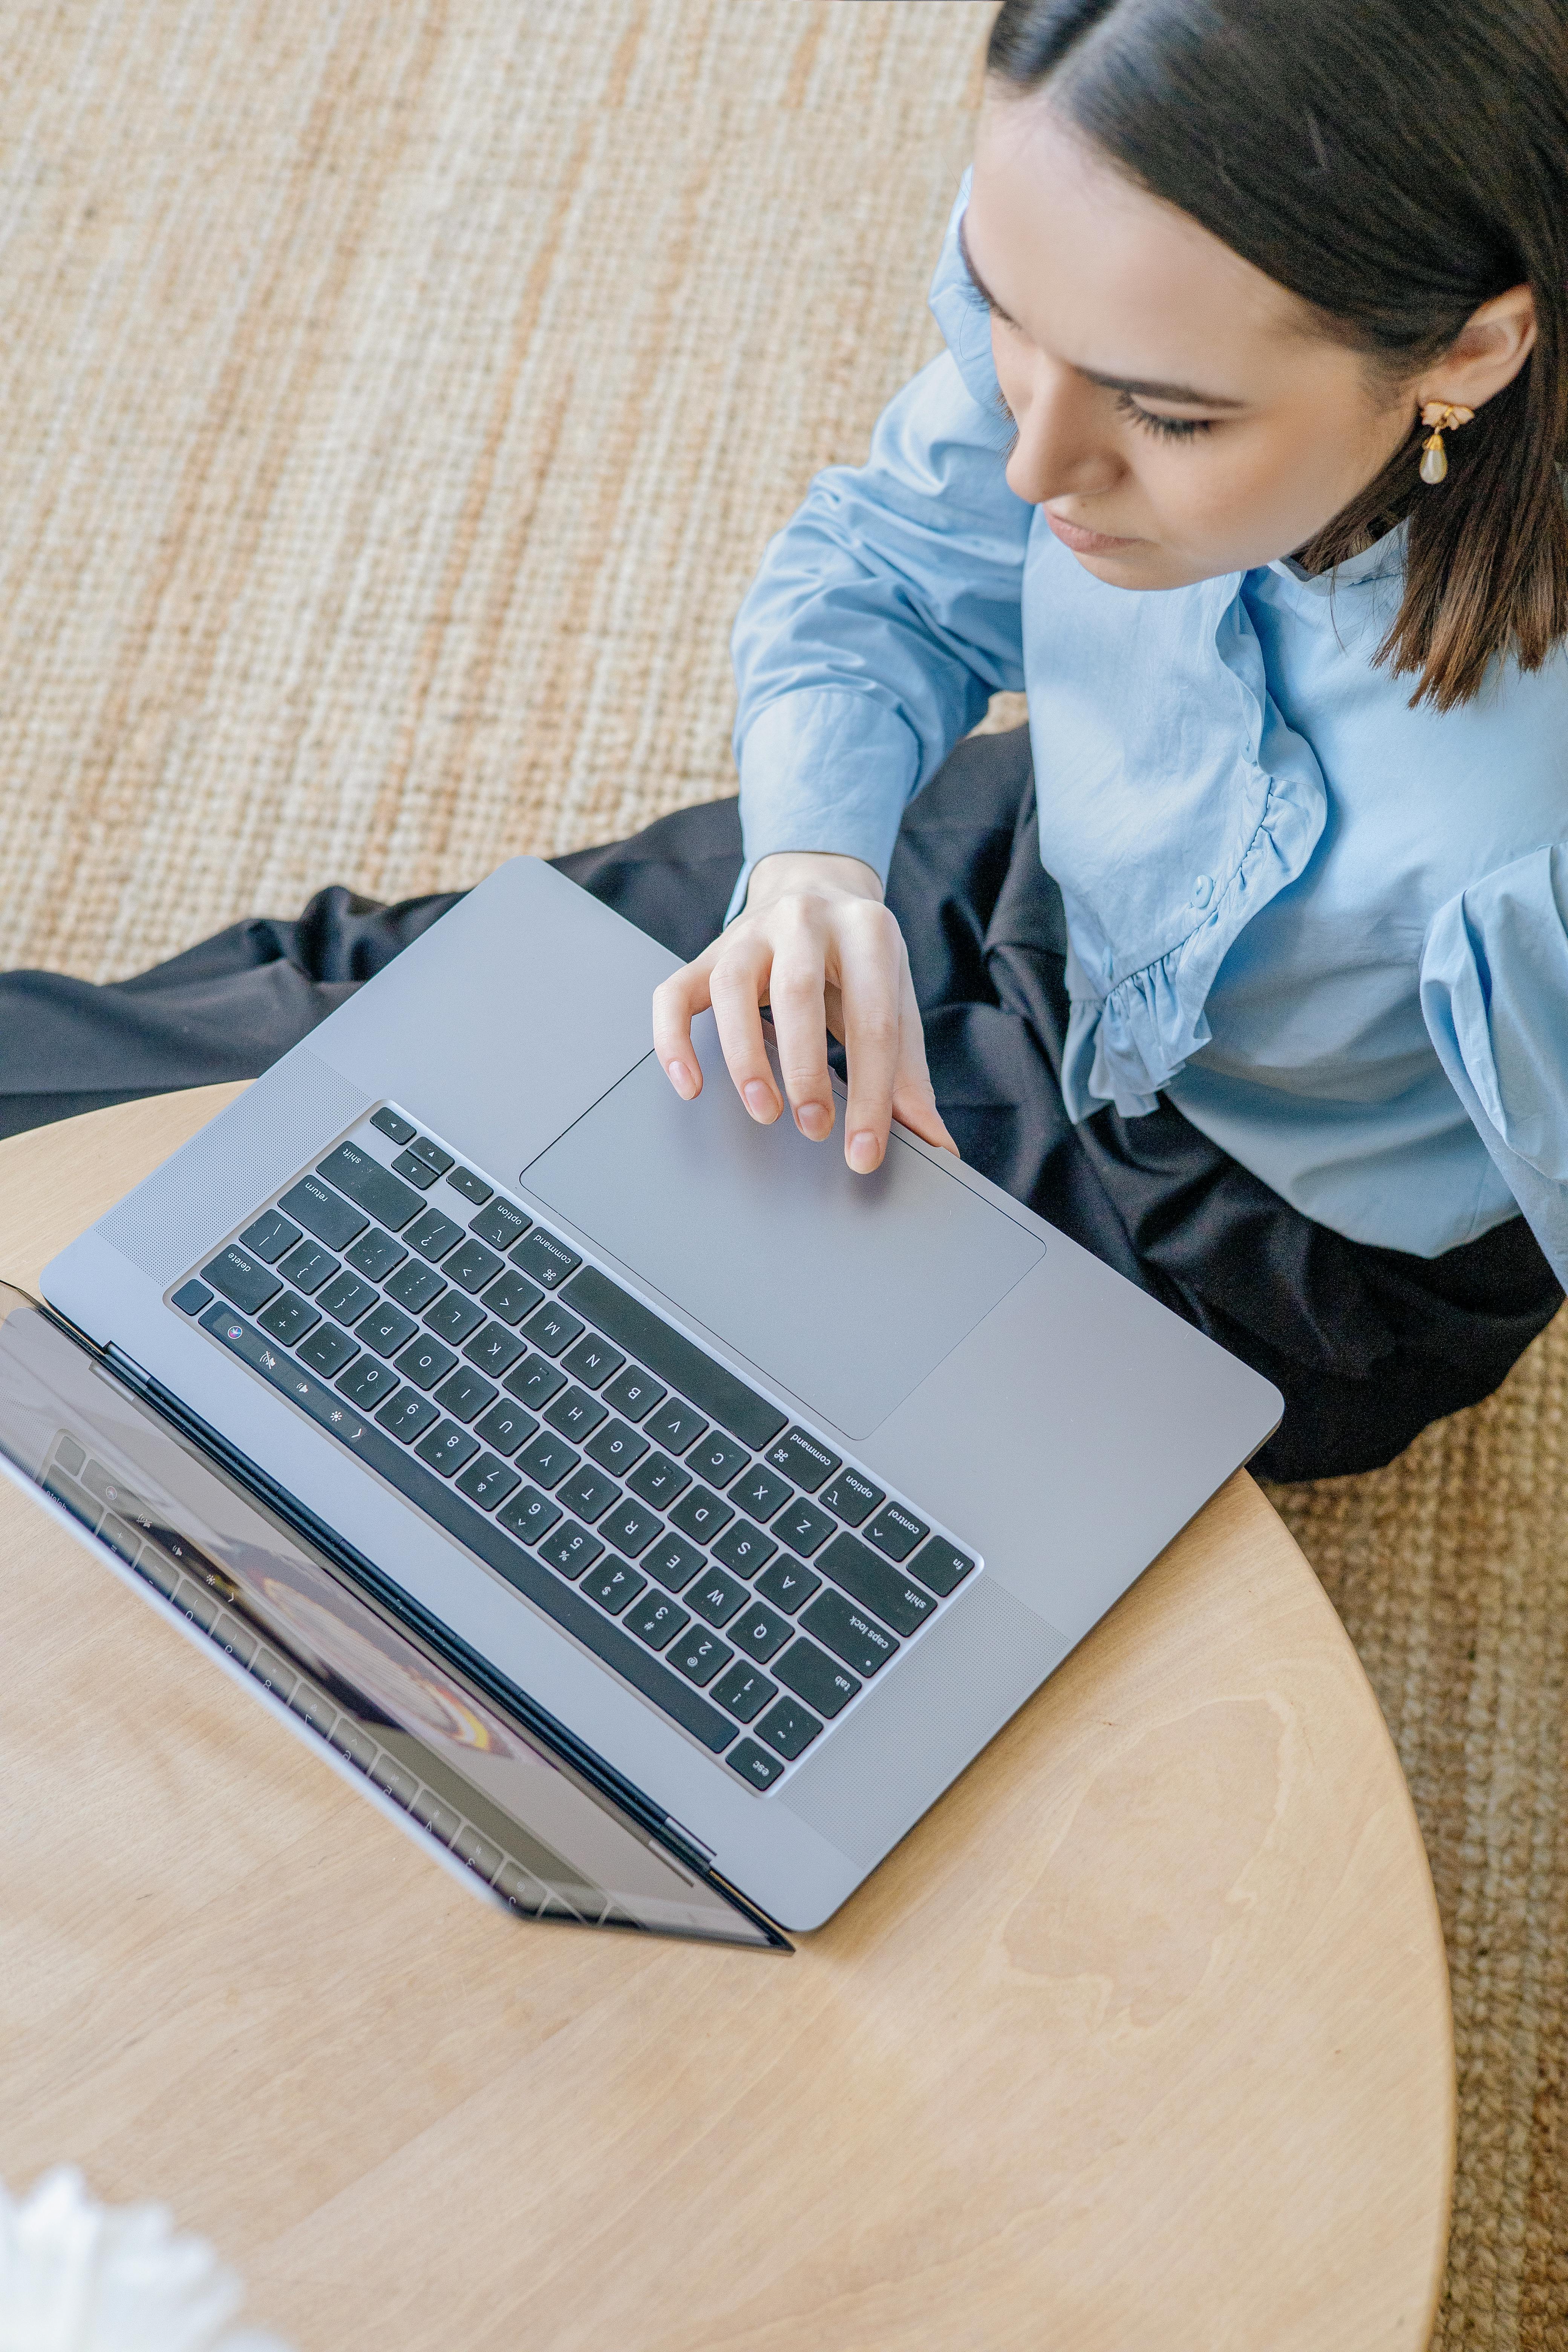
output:
[[[0,1145],[0,1272],[230,1098]],[[299,2352],[1420,2352],[1410,1799],[1237,1475],[792,1959],[489,1915],[0,1494],[0,2173],[162,2197]]]

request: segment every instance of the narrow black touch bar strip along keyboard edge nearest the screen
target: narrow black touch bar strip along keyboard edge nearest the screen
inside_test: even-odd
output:
[[[736,1724],[717,1708],[710,1708],[689,1682],[672,1675],[668,1665],[649,1656],[642,1642],[635,1642],[630,1632],[602,1618],[592,1602],[585,1602],[581,1592],[564,1585],[559,1576],[541,1566],[520,1543],[512,1543],[501,1534],[482,1512],[470,1510],[470,1505],[451,1491],[433,1470],[416,1463],[402,1451],[395,1437],[383,1437],[381,1430],[360,1421],[355,1414],[343,1411],[343,1399],[329,1388],[322,1388],[308,1371],[292,1364],[287,1357],[277,1355],[273,1341],[266,1341],[261,1331],[254,1331],[242,1322],[230,1308],[212,1308],[202,1315],[202,1329],[212,1331],[214,1338],[242,1357],[254,1371],[282,1388],[287,1397],[331,1428],[350,1454],[378,1470],[390,1486],[416,1503],[425,1517],[444,1526],[449,1536],[456,1536],[470,1552],[475,1552],[487,1569],[496,1569],[505,1576],[508,1585],[531,1599],[545,1616],[555,1618],[567,1632],[576,1635],[578,1642],[590,1649],[604,1665],[614,1665],[632,1689],[651,1698],[656,1708],[672,1715],[684,1731],[719,1755],[736,1736]],[[390,1573],[390,1571],[388,1571]]]

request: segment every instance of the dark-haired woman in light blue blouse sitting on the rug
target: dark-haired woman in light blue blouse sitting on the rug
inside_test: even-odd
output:
[[[562,861],[691,955],[682,1096],[712,1004],[827,1138],[832,1028],[849,1164],[898,1117],[1234,1348],[1276,1477],[1392,1458],[1563,1296],[1566,165],[1556,0],[1006,0],[947,350],[741,614],[743,856],[726,802]],[[1027,736],[961,741],[999,687]],[[214,1007],[261,1065],[444,903],[16,976],[40,1068],[226,1075]]]

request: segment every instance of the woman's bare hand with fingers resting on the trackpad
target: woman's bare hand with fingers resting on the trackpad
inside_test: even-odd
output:
[[[802,1136],[820,1143],[832,1134],[832,1030],[849,1054],[844,1157],[858,1176],[882,1167],[893,1117],[957,1152],[931,1094],[903,931],[860,858],[825,851],[762,858],[745,913],[654,990],[654,1049],[684,1101],[703,1091],[691,1016],[708,1004],[736,1091],[762,1127],[783,1110],[762,1040],[766,1004]]]

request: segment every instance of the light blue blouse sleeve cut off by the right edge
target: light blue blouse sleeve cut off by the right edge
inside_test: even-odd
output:
[[[1568,844],[1436,910],[1420,1002],[1453,1091],[1568,1284]]]

